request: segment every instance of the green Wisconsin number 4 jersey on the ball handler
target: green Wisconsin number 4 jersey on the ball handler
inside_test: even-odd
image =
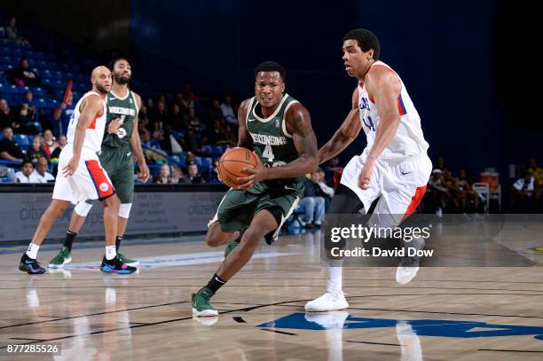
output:
[[[251,98],[248,106],[247,129],[253,138],[255,152],[265,167],[278,167],[298,158],[292,135],[287,132],[285,114],[290,106],[297,103],[295,98],[285,94],[279,106],[268,118],[257,114],[259,103]]]

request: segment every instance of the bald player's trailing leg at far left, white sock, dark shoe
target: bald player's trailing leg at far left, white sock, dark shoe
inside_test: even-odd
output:
[[[70,202],[67,200],[51,200],[51,204],[40,217],[39,224],[35,229],[27,252],[20,259],[20,271],[26,271],[30,274],[42,274],[45,272],[45,269],[36,262],[38,249],[42,245],[47,233],[51,230],[52,225],[59,219],[59,216],[62,216],[69,204]]]

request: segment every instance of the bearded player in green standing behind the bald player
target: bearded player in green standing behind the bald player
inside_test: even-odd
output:
[[[141,107],[141,98],[129,89],[132,70],[127,59],[115,59],[111,64],[114,82],[111,91],[107,94],[107,131],[102,140],[101,152],[98,154],[102,167],[106,169],[115,192],[121,200],[119,208],[119,221],[117,228],[116,252],[130,215],[130,208],[134,198],[134,164],[132,154],[136,156],[141,177],[146,182],[149,169],[146,158],[141,149],[138,133],[138,112]],[[70,225],[67,229],[64,245],[49,263],[50,268],[62,268],[72,260],[72,243],[75,236],[83,227],[85,217],[92,208],[89,201],[79,202],[72,212]],[[138,261],[126,258],[119,253],[122,263],[137,266]]]

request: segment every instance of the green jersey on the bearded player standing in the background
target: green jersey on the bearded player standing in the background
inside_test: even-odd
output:
[[[134,120],[138,115],[138,103],[136,96],[129,90],[124,97],[118,97],[113,91],[107,93],[107,121],[106,132],[102,145],[107,145],[112,148],[130,148],[130,136],[134,128]],[[109,134],[107,126],[115,118],[122,118],[123,123],[116,134]]]

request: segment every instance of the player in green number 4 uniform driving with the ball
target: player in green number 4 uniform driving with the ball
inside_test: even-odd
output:
[[[206,243],[230,243],[224,262],[207,286],[193,294],[193,315],[216,316],[209,299],[248,263],[261,239],[277,238],[283,222],[303,195],[304,175],[317,169],[317,139],[310,114],[285,91],[285,70],[266,61],[255,70],[255,97],[238,112],[238,146],[254,150],[255,169],[238,179],[209,221]]]

